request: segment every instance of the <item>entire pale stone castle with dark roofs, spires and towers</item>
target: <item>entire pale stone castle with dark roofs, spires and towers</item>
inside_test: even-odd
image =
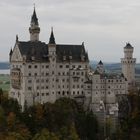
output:
[[[10,51],[11,87],[9,96],[25,104],[55,102],[68,97],[82,102],[100,118],[102,113],[117,116],[117,96],[128,93],[128,83],[135,81],[133,47],[124,47],[123,74],[106,74],[100,61],[91,70],[84,43],[81,45],[56,44],[51,31],[49,43],[39,40],[40,27],[34,9],[29,27],[30,40],[16,37]]]

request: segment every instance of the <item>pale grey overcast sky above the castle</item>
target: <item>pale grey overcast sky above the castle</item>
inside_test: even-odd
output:
[[[130,42],[140,62],[140,0],[0,0],[0,61],[8,61],[15,36],[29,40],[33,4],[48,43],[51,27],[57,44],[82,44],[90,60],[120,62]]]

